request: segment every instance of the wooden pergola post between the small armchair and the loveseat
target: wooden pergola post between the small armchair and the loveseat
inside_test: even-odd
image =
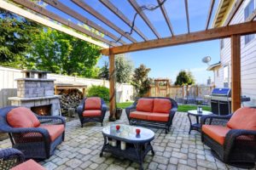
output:
[[[109,118],[115,118],[115,68],[114,54],[109,55]]]

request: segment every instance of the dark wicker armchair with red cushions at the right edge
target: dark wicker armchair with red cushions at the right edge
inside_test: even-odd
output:
[[[220,122],[227,121],[226,125]],[[241,108],[227,116],[202,116],[201,140],[224,163],[251,168],[256,161],[256,109]]]

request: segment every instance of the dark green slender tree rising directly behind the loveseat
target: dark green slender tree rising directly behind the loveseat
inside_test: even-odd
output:
[[[145,65],[140,65],[134,71],[131,84],[134,86],[138,97],[143,97],[148,93],[151,83],[151,79],[148,78],[150,70]]]

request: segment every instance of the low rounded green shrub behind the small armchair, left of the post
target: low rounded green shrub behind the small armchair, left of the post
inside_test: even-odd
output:
[[[109,89],[104,86],[95,86],[92,85],[87,90],[87,97],[100,97],[102,98],[106,103],[109,102]]]

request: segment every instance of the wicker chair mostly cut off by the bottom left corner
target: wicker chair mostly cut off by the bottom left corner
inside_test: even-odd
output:
[[[25,161],[25,156],[20,150],[13,148],[0,150],[0,169],[1,170],[46,170],[36,161]]]

